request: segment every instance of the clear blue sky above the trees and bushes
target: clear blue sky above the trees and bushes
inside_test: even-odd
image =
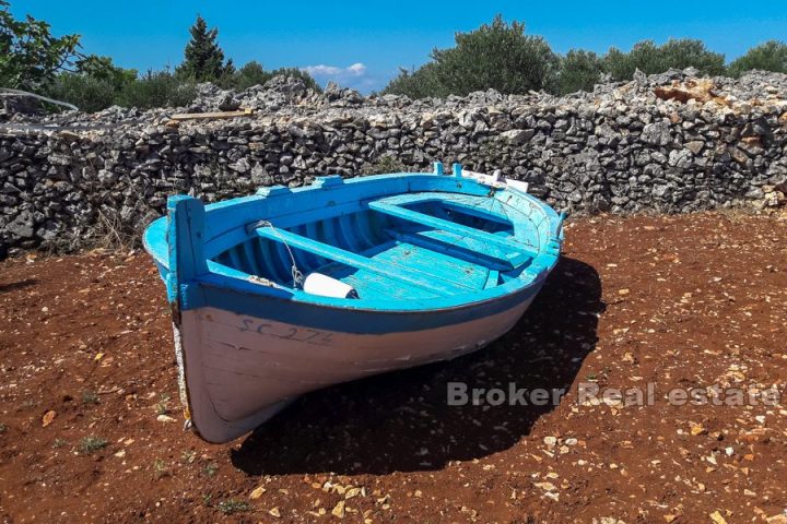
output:
[[[85,51],[108,55],[127,68],[176,66],[197,13],[219,27],[219,41],[236,64],[308,68],[325,84],[364,93],[383,87],[398,68],[418,67],[434,47],[450,47],[454,33],[491,21],[525,21],[529,34],[557,52],[635,41],[694,37],[731,60],[766,39],[787,40],[787,1],[179,1],[12,0],[55,34],[78,33]]]

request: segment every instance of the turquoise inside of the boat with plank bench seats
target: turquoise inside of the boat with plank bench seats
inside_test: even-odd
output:
[[[509,202],[434,191],[383,195],[299,223],[251,223],[240,241],[209,257],[290,289],[318,273],[360,299],[472,294],[518,278],[544,245],[544,227]]]

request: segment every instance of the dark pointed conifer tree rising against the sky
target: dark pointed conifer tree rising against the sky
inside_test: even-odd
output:
[[[232,60],[224,61],[224,51],[216,43],[218,28],[209,29],[204,19],[197,15],[189,33],[191,40],[186,45],[185,60],[176,70],[179,75],[198,82],[210,82],[235,71]]]

